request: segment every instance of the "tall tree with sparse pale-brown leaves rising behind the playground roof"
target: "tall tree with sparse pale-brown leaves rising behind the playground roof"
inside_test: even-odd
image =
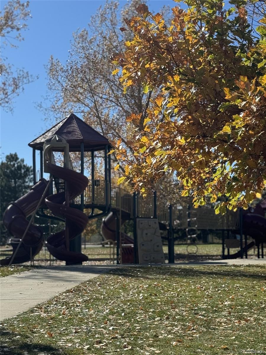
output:
[[[48,118],[52,113],[52,119],[56,116],[61,120],[62,115],[75,112],[110,141],[120,139],[131,150],[135,127],[132,122],[126,122],[125,117],[132,111],[144,114],[149,94],[143,92],[141,84],[129,87],[123,93],[118,81],[119,70],[110,57],[113,52],[123,50],[124,42],[133,39],[133,34],[122,27],[123,18],[136,15],[135,9],[140,4],[140,0],[132,0],[120,7],[118,1],[106,1],[92,16],[88,28],[73,34],[67,62],[62,63],[51,56],[47,70],[52,101],[49,110],[44,110]],[[162,13],[168,18],[169,10],[166,7],[162,8]],[[40,108],[43,109],[41,104]],[[133,150],[131,153],[134,153]],[[75,158],[72,154],[71,159],[73,163],[76,159],[79,165],[79,155]],[[85,166],[90,167],[89,159],[86,155]],[[116,165],[113,154],[112,162]],[[95,165],[98,178],[102,166],[101,163]],[[115,169],[118,168],[119,165],[116,165]],[[113,172],[112,175],[116,183],[120,174]],[[177,184],[176,179],[170,176],[172,174],[167,176],[167,185],[170,180],[171,186]]]

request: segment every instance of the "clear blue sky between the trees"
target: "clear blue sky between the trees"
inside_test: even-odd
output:
[[[120,0],[121,5],[124,2]],[[1,10],[6,3],[1,0]],[[1,109],[1,158],[17,152],[20,158],[32,165],[32,148],[28,147],[28,143],[51,126],[51,122],[44,121],[43,113],[36,107],[36,103],[40,102],[49,105],[43,99],[47,93],[44,66],[51,55],[63,64],[66,62],[72,33],[87,27],[90,17],[104,3],[101,0],[30,1],[32,18],[28,20],[28,29],[22,33],[25,40],[18,43],[17,49],[6,48],[2,55],[14,67],[23,67],[32,75],[39,75],[39,79],[25,86],[24,92],[15,100],[13,114]],[[173,7],[176,3],[172,0],[151,0],[148,5],[156,13],[163,5]]]

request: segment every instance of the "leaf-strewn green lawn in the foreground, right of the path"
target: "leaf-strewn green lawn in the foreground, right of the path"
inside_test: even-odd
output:
[[[266,351],[265,309],[265,266],[119,268],[2,322],[1,342],[12,355],[235,355]]]

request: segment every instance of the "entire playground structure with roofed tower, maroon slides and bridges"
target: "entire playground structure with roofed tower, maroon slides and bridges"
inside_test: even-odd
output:
[[[120,186],[111,188],[111,146],[108,140],[74,114],[60,121],[29,146],[33,148],[34,186],[16,202],[12,202],[4,214],[4,224],[10,234],[13,254],[2,259],[1,265],[31,261],[44,244],[41,229],[34,225],[34,216],[46,220],[60,220],[65,229],[51,233],[46,239],[46,248],[58,260],[67,264],[81,264],[88,257],[81,253],[81,233],[89,219],[104,217],[101,233],[104,239],[116,244],[116,262],[153,263],[164,262],[160,232],[168,241],[168,262],[174,263],[174,242],[177,232],[185,231],[188,246],[195,247],[200,230],[218,230],[222,233],[222,258],[247,258],[248,249],[257,246],[258,257],[263,255],[266,241],[266,203],[255,209],[226,214],[215,214],[212,208],[192,207],[187,197],[167,206],[156,192],[145,199],[139,193],[124,191]],[[37,182],[36,151],[40,152],[40,180]],[[63,153],[63,166],[55,164],[54,152]],[[72,169],[69,152],[80,153],[80,173]],[[90,177],[84,176],[84,152],[90,152]],[[104,179],[95,179],[95,152],[102,152]],[[43,173],[50,174],[50,180]],[[83,211],[85,210],[86,213]],[[30,222],[26,219],[32,215]],[[145,219],[145,221],[144,221]],[[133,236],[122,232],[122,225],[133,220]],[[240,239],[229,239],[239,234]],[[227,234],[227,238],[226,238]],[[153,236],[156,235],[156,240]],[[254,241],[248,244],[247,236]],[[231,244],[230,244],[231,241]],[[229,255],[230,245],[240,248]],[[232,246],[231,246],[232,247]]]

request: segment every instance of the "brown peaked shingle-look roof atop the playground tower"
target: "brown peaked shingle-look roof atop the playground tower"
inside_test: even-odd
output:
[[[81,151],[82,142],[84,143],[84,151],[91,151],[93,149],[100,150],[103,149],[104,146],[110,145],[107,138],[95,131],[73,113],[52,126],[38,138],[35,138],[28,145],[32,148],[41,150],[44,141],[54,135],[64,138],[69,144],[69,150],[72,152]]]

